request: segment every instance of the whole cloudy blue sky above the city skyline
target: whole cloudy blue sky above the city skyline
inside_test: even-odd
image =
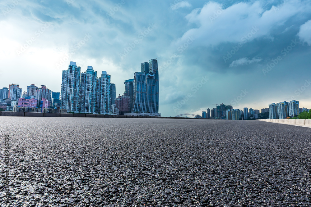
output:
[[[60,92],[70,61],[105,70],[123,94],[157,58],[165,116],[216,104],[311,108],[311,1],[2,0],[0,88]]]

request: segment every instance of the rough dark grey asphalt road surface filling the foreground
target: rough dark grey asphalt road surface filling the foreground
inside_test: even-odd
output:
[[[311,206],[310,128],[0,117],[3,154],[6,134],[11,198],[2,179],[0,206]]]

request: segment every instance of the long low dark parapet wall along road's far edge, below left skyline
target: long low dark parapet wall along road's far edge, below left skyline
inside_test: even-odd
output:
[[[124,115],[103,115],[103,114],[59,114],[59,113],[35,113],[35,112],[12,112],[0,111],[0,116],[26,116],[26,117],[85,117],[85,118],[152,118],[152,119],[197,119],[185,117],[165,116],[124,116]]]

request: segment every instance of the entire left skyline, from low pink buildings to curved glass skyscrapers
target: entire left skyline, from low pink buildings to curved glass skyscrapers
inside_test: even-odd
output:
[[[134,73],[134,79],[125,80],[125,92],[116,98],[116,85],[110,75],[88,66],[81,73],[76,62],[70,62],[63,70],[60,92],[53,92],[42,85],[27,86],[22,92],[19,84],[0,89],[0,109],[16,112],[45,113],[93,113],[110,115],[159,114],[159,70],[158,61],[151,59],[141,64],[141,72]]]

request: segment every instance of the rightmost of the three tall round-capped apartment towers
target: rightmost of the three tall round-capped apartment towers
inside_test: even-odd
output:
[[[110,109],[110,75],[102,71],[101,77],[97,79],[96,87],[96,112],[109,114]]]

